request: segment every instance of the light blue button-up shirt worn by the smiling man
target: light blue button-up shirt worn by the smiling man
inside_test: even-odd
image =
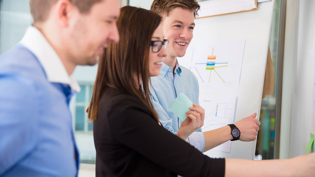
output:
[[[193,103],[199,104],[199,85],[195,75],[176,61],[175,74],[173,68],[162,63],[161,74],[151,77],[150,94],[154,109],[157,111],[163,127],[176,134],[181,120],[169,109],[169,105],[178,94],[183,92]],[[204,134],[201,128],[188,136],[189,143],[199,151],[204,149]]]

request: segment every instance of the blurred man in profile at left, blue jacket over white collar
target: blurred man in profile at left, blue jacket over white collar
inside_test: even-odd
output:
[[[33,26],[0,56],[0,176],[77,176],[72,73],[119,40],[119,1],[31,0],[30,8]]]

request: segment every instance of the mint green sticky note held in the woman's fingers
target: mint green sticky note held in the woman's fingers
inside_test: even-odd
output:
[[[183,92],[175,98],[171,105],[169,105],[169,108],[181,121],[184,121],[187,118],[186,112],[190,111],[189,107],[193,107],[192,101],[189,100]]]

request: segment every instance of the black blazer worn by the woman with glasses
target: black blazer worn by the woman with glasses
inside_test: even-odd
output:
[[[96,176],[224,176],[225,159],[209,158],[167,131],[135,96],[107,88],[97,116]]]

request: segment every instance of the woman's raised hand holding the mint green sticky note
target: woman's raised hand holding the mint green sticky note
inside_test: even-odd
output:
[[[177,132],[177,136],[183,140],[186,140],[192,132],[203,126],[204,109],[195,103],[193,106],[189,108],[191,111],[186,112],[187,118],[181,123]]]

